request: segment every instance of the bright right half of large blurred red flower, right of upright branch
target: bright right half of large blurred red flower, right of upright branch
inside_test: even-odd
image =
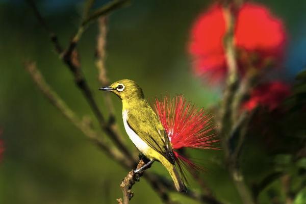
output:
[[[285,45],[285,29],[280,19],[260,5],[244,4],[239,11],[235,30],[235,43],[262,57],[279,58]]]

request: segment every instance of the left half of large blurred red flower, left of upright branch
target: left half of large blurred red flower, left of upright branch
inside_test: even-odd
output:
[[[223,78],[226,72],[223,48],[225,32],[226,22],[220,5],[213,5],[201,14],[192,28],[189,52],[194,57],[194,71],[211,82]]]

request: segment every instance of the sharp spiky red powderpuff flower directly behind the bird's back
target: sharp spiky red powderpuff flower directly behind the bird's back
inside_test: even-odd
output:
[[[182,165],[188,170],[199,170],[191,160],[179,155],[177,150],[183,147],[198,149],[218,149],[214,147],[219,140],[214,139],[212,116],[204,109],[200,109],[180,95],[164,100],[156,99],[154,105],[162,125],[169,137],[175,159],[181,172]],[[184,176],[185,177],[185,176]]]

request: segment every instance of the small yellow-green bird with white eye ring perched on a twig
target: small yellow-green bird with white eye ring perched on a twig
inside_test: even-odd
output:
[[[170,173],[176,190],[186,192],[187,188],[177,171],[169,137],[159,117],[144,98],[142,89],[132,80],[120,80],[99,90],[111,91],[121,99],[125,131],[138,150],[149,159],[141,169],[134,172],[159,161]]]

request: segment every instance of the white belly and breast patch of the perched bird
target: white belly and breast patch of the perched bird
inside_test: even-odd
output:
[[[124,124],[124,129],[129,135],[130,139],[134,143],[134,145],[138,148],[139,151],[141,151],[143,154],[150,148],[147,143],[145,143],[127,124],[127,111],[122,112],[122,118],[123,118],[123,124]]]

